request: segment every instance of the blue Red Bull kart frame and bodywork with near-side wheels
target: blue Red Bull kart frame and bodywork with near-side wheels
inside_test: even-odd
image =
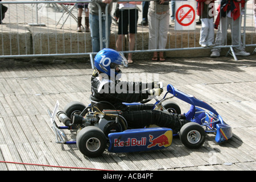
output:
[[[167,94],[172,94],[171,97],[167,97]],[[205,133],[216,133],[216,142],[221,143],[232,137],[232,129],[229,125],[227,125],[222,117],[217,113],[215,109],[213,109],[207,103],[198,100],[194,96],[185,94],[180,90],[174,88],[172,85],[167,85],[167,92],[161,100],[155,98],[156,102],[152,109],[158,109],[162,111],[169,110],[170,108],[165,108],[163,102],[170,100],[171,98],[179,98],[180,100],[187,102],[188,104],[196,106],[196,114],[195,117],[201,113],[205,113],[205,117],[201,121],[201,125],[197,123],[187,123],[181,128],[179,133],[174,133],[172,129],[167,129],[163,127],[152,127],[152,128],[144,128],[144,129],[126,129],[120,132],[108,133],[108,135],[104,135],[101,130],[104,130],[104,126],[107,125],[108,121],[101,122],[101,129],[98,129],[100,125],[96,126],[86,126],[84,127],[86,131],[80,131],[83,136],[81,136],[80,132],[77,135],[77,140],[67,140],[67,135],[63,132],[63,130],[71,130],[71,126],[58,126],[55,122],[55,117],[58,115],[59,111],[59,101],[56,102],[55,109],[51,112],[48,109],[48,114],[51,119],[52,129],[55,133],[56,143],[60,144],[77,144],[79,150],[87,156],[98,156],[101,155],[103,149],[101,144],[104,143],[104,150],[108,147],[110,152],[134,152],[134,151],[146,151],[146,150],[158,150],[162,148],[167,148],[172,143],[172,137],[175,135],[179,135],[183,144],[188,148],[198,148],[200,147],[205,140]],[[148,101],[144,101],[148,102]],[[141,103],[133,103],[133,104],[141,104]],[[129,105],[129,104],[127,104]],[[84,110],[80,113],[88,113],[92,112],[92,105],[85,107]],[[176,109],[179,110],[179,109]],[[175,112],[176,110],[171,108],[171,112]],[[75,112],[75,111],[74,111]],[[65,112],[63,112],[65,114]],[[177,113],[179,114],[179,113]],[[118,114],[117,114],[118,115]],[[118,115],[119,116],[119,115]],[[59,117],[58,117],[59,118]],[[117,118],[117,117],[116,117]],[[116,119],[117,120],[117,119]],[[61,119],[59,118],[59,121]],[[114,121],[113,121],[114,122]],[[112,122],[112,123],[113,123]],[[99,122],[100,123],[100,122]],[[102,124],[104,123],[104,124]],[[117,121],[115,121],[117,123]],[[204,128],[204,129],[203,129]],[[88,130],[88,131],[87,131]],[[91,131],[92,130],[92,131]],[[97,133],[101,135],[101,138],[97,136],[87,136],[87,133]],[[86,135],[84,137],[84,135]],[[87,137],[87,138],[86,138]],[[84,139],[86,138],[86,139]],[[78,139],[82,142],[77,143]]]

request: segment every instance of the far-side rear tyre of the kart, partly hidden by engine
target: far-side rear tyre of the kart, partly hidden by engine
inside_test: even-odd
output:
[[[72,118],[74,113],[80,114],[85,109],[85,105],[78,101],[69,102],[64,107],[64,112],[67,114],[67,117]]]

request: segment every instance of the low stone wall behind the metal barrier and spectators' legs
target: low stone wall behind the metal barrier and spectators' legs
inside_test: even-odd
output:
[[[75,28],[73,29],[75,30]],[[6,24],[2,28],[0,36],[0,55],[31,55],[31,54],[55,54],[55,53],[82,53],[92,52],[92,42],[89,32],[77,33],[76,31],[61,30],[49,27],[12,26]],[[185,49],[199,46],[200,28],[196,31],[170,31],[168,34],[167,48],[184,48],[179,51],[165,52],[167,57],[198,57],[209,56],[209,48]],[[230,32],[228,44],[231,44]],[[109,48],[115,49],[117,32],[110,36]],[[137,50],[148,49],[148,32],[138,31]],[[253,41],[254,40],[254,41]],[[246,34],[246,44],[254,43],[256,35]],[[128,40],[124,41],[124,50],[128,50]],[[247,51],[253,51],[255,47],[247,47]],[[221,53],[226,54],[226,49]],[[134,59],[148,59],[152,52],[134,53]]]

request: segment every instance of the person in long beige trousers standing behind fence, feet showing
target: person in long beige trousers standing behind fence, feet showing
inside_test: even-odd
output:
[[[149,49],[165,49],[169,31],[170,7],[169,1],[159,0],[150,2],[148,14]],[[159,52],[159,61],[165,61],[163,51]],[[152,61],[158,60],[158,52],[153,53]]]

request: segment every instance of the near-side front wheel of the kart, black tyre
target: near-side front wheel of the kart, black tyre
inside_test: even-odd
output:
[[[180,129],[180,140],[188,148],[199,148],[205,141],[205,131],[198,123],[186,123]]]

